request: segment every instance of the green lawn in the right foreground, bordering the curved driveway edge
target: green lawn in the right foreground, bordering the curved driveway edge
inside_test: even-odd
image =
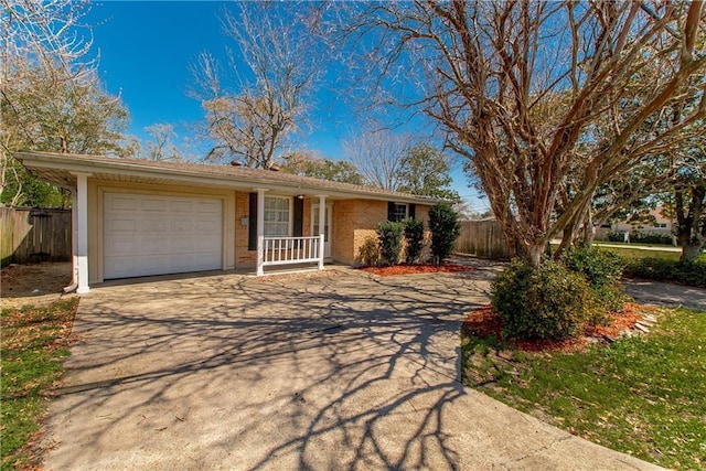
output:
[[[657,312],[648,338],[579,353],[503,353],[494,339],[464,336],[463,382],[593,442],[703,469],[706,312]]]

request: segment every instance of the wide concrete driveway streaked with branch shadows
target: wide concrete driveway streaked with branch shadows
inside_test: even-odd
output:
[[[656,469],[460,385],[460,322],[493,272],[94,289],[45,467]]]

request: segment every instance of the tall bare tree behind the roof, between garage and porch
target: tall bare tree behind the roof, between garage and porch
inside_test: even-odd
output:
[[[240,2],[224,20],[235,42],[229,68],[201,54],[196,95],[215,141],[208,158],[269,168],[306,121],[319,74],[318,43],[298,4]],[[304,6],[306,7],[306,6]]]

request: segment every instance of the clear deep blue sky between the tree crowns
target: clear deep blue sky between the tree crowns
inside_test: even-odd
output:
[[[165,122],[180,138],[203,119],[199,100],[188,96],[193,83],[190,65],[199,53],[223,55],[227,39],[221,25],[225,3],[216,1],[104,1],[94,3],[86,23],[93,25],[94,50],[100,53],[100,76],[110,94],[120,94],[131,122],[129,132],[146,139],[145,127]],[[336,94],[318,94],[311,132],[301,142],[311,150],[342,158],[341,140],[349,114]],[[457,169],[453,188],[474,208],[486,207]]]

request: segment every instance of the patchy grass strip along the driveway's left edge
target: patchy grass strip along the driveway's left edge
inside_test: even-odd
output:
[[[0,382],[2,470],[36,465],[32,441],[46,414],[52,385],[68,355],[78,298],[3,309]]]

